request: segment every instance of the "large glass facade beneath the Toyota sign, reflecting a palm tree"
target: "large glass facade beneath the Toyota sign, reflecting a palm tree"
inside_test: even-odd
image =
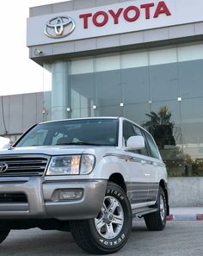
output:
[[[44,67],[45,121],[124,116],[151,132],[170,176],[203,176],[203,43]]]

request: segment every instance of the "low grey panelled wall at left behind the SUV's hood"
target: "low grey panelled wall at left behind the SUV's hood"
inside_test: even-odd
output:
[[[22,134],[43,120],[43,92],[0,97],[0,135]]]

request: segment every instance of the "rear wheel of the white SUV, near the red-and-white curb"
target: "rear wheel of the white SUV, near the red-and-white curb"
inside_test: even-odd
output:
[[[162,187],[159,187],[156,206],[156,212],[144,216],[146,227],[151,231],[163,230],[166,226],[166,197]]]

